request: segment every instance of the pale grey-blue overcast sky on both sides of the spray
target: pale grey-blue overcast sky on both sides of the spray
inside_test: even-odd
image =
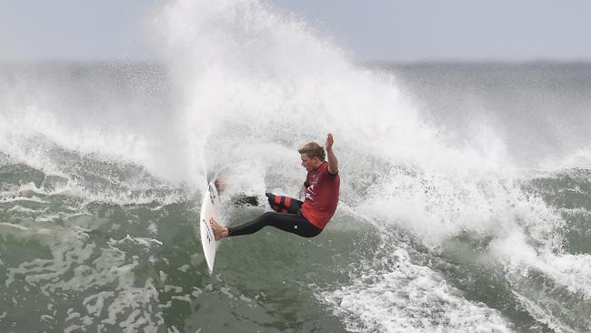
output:
[[[591,60],[591,0],[266,1],[361,61]],[[0,0],[0,60],[145,59],[157,3]]]

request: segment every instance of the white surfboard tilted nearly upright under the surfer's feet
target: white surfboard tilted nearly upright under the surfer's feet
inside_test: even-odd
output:
[[[215,206],[219,204],[220,200],[217,193],[217,188],[215,188],[214,181],[215,180],[210,181],[207,185],[207,188],[205,188],[203,193],[203,202],[201,204],[201,214],[199,217],[201,245],[203,247],[203,253],[205,255],[205,261],[207,262],[207,267],[209,268],[209,274],[214,272],[215,250],[217,249],[217,245],[219,243],[219,241],[215,240],[214,230],[212,230],[211,225],[209,224],[209,219],[213,217],[215,221],[221,224],[220,220],[216,216]]]

